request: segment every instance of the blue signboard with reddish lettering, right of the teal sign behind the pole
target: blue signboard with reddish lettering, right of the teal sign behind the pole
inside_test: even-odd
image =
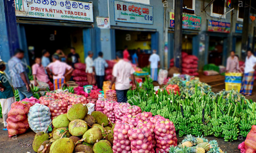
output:
[[[208,31],[230,33],[230,23],[208,20]]]

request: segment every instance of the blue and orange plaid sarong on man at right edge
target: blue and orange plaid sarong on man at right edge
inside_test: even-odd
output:
[[[241,84],[240,94],[252,95],[254,72],[245,73]]]

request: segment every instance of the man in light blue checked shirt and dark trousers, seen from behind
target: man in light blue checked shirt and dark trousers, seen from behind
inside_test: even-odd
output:
[[[102,89],[105,67],[108,67],[108,63],[103,59],[103,53],[99,52],[98,57],[93,62],[93,69],[96,72],[96,82],[99,89]]]

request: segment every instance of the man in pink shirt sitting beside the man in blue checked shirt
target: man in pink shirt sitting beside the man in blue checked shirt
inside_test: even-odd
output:
[[[50,86],[50,90],[54,90],[53,83],[49,80],[48,75],[45,74],[45,69],[41,63],[41,58],[35,58],[35,64],[32,66],[32,74],[34,77],[34,86],[38,86],[38,81],[47,83]],[[49,75],[52,77],[52,75]]]

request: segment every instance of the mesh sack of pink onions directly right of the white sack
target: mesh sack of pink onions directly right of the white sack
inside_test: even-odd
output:
[[[56,99],[55,101],[50,101],[49,108],[52,113],[51,119],[53,120],[53,117],[67,113],[68,103],[66,101]]]

